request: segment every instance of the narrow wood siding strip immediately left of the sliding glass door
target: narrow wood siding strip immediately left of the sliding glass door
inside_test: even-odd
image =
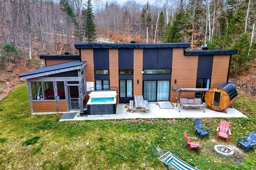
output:
[[[143,49],[134,49],[133,52],[133,95],[142,95]]]

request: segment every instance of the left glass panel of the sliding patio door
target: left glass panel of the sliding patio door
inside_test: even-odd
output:
[[[144,81],[144,99],[148,101],[156,101],[157,97],[157,81]]]

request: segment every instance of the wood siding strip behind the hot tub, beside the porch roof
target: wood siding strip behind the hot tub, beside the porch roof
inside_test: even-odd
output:
[[[81,60],[86,61],[85,66],[85,81],[94,82],[94,50],[93,49],[81,49]],[[86,83],[85,83],[86,86]],[[94,84],[95,86],[95,84]],[[86,101],[89,99],[88,92],[86,92]]]

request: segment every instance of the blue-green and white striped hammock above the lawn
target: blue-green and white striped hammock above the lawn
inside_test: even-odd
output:
[[[192,167],[187,164],[177,156],[175,156],[170,151],[166,151],[160,148],[157,148],[155,145],[151,144],[158,153],[158,159],[164,163],[165,167],[170,166],[174,170],[198,170],[197,168]]]

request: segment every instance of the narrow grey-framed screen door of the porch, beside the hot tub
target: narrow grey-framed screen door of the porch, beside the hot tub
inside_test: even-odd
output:
[[[79,86],[68,86],[69,108],[70,110],[79,110]]]

